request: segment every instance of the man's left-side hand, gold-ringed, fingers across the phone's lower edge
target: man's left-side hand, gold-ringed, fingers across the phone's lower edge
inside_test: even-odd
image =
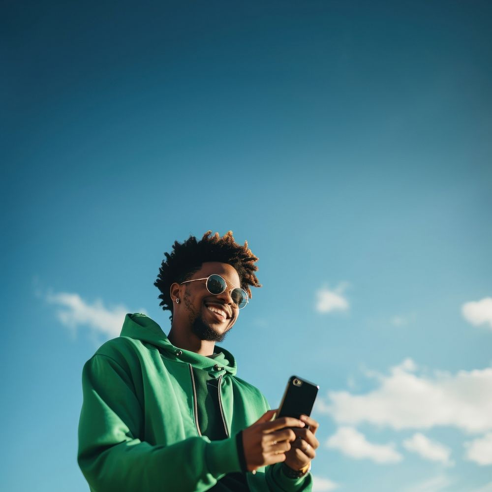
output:
[[[298,428],[297,432],[306,425],[292,417],[270,421],[276,412],[277,410],[269,410],[243,431],[243,448],[249,471],[285,461],[285,453],[290,450],[291,442],[297,437],[295,431],[285,428],[295,427]]]

